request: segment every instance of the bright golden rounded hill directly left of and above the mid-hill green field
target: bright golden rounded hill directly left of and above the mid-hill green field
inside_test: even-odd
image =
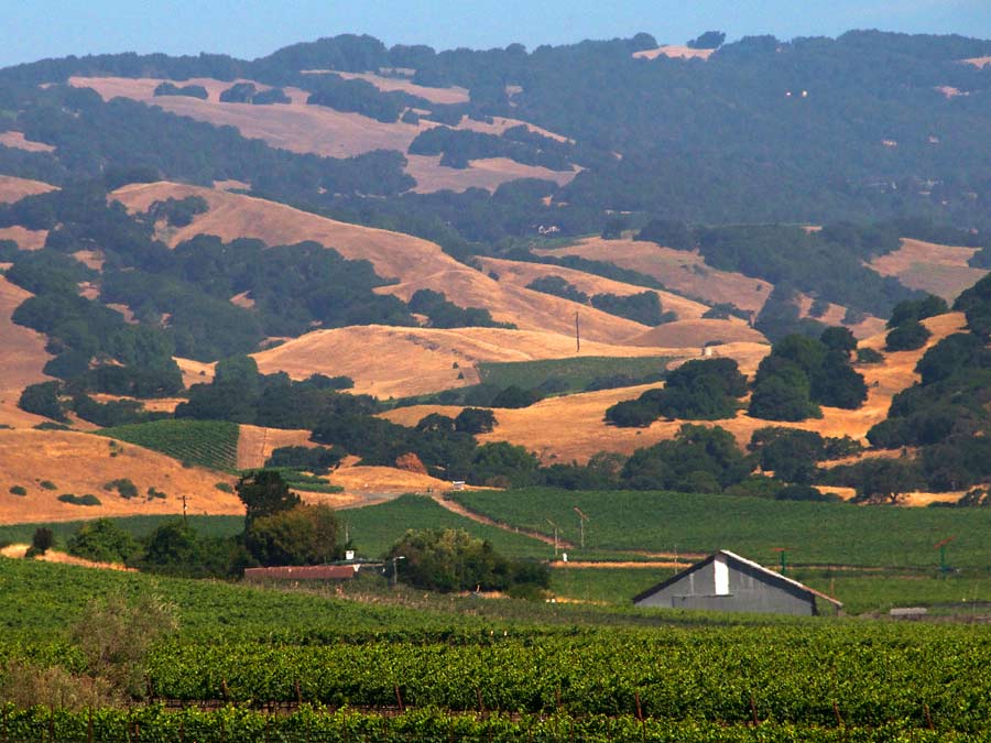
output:
[[[677,351],[667,349],[676,356]],[[665,349],[582,341],[580,356],[663,356]],[[262,373],[347,375],[356,393],[405,397],[477,383],[483,361],[576,356],[571,336],[500,328],[362,326],[317,330],[253,354]],[[457,365],[455,365],[457,364]],[[459,379],[459,376],[461,379]]]

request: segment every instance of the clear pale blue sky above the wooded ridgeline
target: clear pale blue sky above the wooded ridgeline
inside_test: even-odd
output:
[[[533,48],[632,36],[683,43],[719,29],[730,39],[836,36],[849,29],[991,37],[991,0],[3,0],[0,66],[68,54],[227,53],[243,58],[338,33],[435,48]]]

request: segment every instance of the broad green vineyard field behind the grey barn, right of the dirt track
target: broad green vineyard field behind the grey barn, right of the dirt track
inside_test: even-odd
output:
[[[956,567],[991,567],[988,509],[899,509],[847,503],[797,503],[669,492],[569,492],[526,489],[454,495],[499,522],[579,540],[579,507],[588,517],[589,549],[709,553],[729,549],[773,564],[784,547],[802,565],[936,568],[933,545],[956,536],[947,550]],[[581,550],[570,550],[576,559]]]

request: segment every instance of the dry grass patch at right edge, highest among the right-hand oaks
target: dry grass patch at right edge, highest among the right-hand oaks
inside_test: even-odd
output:
[[[988,273],[967,264],[976,252],[977,248],[902,240],[901,249],[875,258],[871,267],[884,276],[895,276],[910,288],[929,292],[952,303],[963,289]]]

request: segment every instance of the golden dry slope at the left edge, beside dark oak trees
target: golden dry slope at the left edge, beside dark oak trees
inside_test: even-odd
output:
[[[30,296],[0,276],[0,424],[8,426],[33,426],[44,420],[18,407],[25,386],[50,379],[42,372],[52,358],[45,351],[45,337],[11,320],[13,310]],[[0,471],[2,463],[0,458]]]

